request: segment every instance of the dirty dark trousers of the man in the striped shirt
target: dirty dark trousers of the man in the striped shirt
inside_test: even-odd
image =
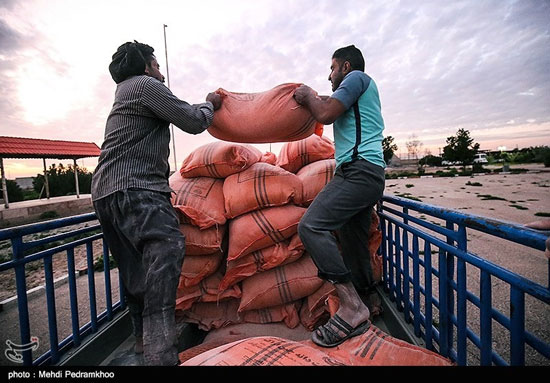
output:
[[[104,239],[118,264],[134,335],[147,365],[178,362],[176,290],[185,237],[169,193],[129,189],[94,202]]]

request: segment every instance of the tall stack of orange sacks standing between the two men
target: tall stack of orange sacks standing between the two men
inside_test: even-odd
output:
[[[228,142],[191,153],[170,178],[186,236],[177,315],[203,330],[243,322],[313,330],[328,319],[338,298],[297,228],[334,166],[332,141],[315,135],[286,143],[278,157]]]

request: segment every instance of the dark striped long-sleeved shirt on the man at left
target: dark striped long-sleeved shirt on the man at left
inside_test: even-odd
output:
[[[170,123],[198,134],[213,117],[211,102],[190,105],[153,77],[119,83],[92,177],[92,200],[130,188],[170,193]]]

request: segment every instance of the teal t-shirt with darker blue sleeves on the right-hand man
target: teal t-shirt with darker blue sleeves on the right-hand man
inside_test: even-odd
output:
[[[352,160],[356,145],[356,123],[353,105],[359,104],[361,115],[361,141],[358,157],[375,165],[386,167],[382,151],[384,119],[380,106],[378,87],[365,72],[354,70],[346,75],[332,94],[342,102],[346,111],[334,121],[334,146],[336,167]]]

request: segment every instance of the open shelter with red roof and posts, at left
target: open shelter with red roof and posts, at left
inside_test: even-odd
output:
[[[2,193],[4,206],[9,208],[8,189],[4,171],[4,158],[42,159],[44,164],[44,185],[46,197],[50,198],[46,158],[74,161],[74,176],[76,185],[76,197],[80,198],[78,188],[77,159],[86,157],[99,157],[99,147],[93,142],[45,140],[38,138],[6,137],[0,136],[0,171],[2,176]]]

